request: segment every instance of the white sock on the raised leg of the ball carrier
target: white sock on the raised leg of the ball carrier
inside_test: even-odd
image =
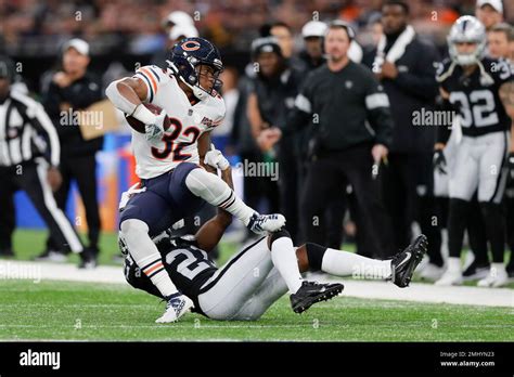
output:
[[[243,223],[248,225],[249,219],[256,212],[241,200],[227,182],[216,174],[204,169],[193,169],[185,177],[185,185],[196,196],[208,204],[220,207],[232,213]]]

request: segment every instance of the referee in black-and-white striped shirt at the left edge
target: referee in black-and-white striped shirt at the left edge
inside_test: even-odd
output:
[[[14,63],[0,56],[0,255],[13,256],[14,193],[23,190],[63,247],[81,257],[80,266],[93,266],[66,216],[53,197],[61,182],[59,136],[43,107],[11,90]]]

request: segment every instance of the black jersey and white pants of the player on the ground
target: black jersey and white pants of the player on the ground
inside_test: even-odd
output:
[[[267,237],[244,247],[220,269],[194,239],[169,238],[169,233],[156,238],[169,277],[193,301],[194,311],[209,318],[256,320],[287,291],[273,266]],[[125,277],[132,287],[163,298],[129,253]]]

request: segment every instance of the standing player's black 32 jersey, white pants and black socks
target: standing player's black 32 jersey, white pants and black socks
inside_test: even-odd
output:
[[[438,72],[441,88],[449,93],[450,107],[458,112],[462,136],[449,143],[449,251],[457,258],[462,249],[465,219],[476,191],[491,246],[492,262],[502,263],[504,219],[501,208],[507,170],[511,119],[499,96],[500,87],[514,80],[514,69],[503,60],[481,60],[479,67],[465,76],[461,66],[451,72],[445,62]],[[452,129],[455,127],[452,127]],[[438,141],[446,143],[449,131],[439,127]],[[452,136],[452,139],[453,139]],[[459,140],[460,139],[460,140]]]

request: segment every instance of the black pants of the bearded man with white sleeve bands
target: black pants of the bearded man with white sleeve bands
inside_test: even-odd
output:
[[[351,184],[359,217],[357,232],[374,250],[373,257],[391,255],[390,220],[381,198],[380,184],[372,176],[370,145],[358,145],[340,152],[321,154],[308,167],[301,194],[301,224],[308,242],[324,244],[329,226],[325,209]]]

